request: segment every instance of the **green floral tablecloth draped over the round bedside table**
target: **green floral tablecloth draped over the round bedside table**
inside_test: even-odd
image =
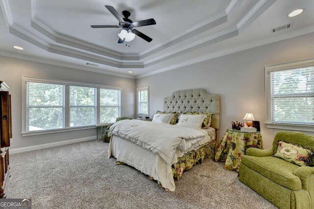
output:
[[[242,156],[250,147],[263,148],[261,133],[245,133],[227,129],[214,160],[225,161],[225,169],[238,171]]]

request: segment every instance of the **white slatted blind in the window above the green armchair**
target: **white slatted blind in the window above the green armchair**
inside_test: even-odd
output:
[[[270,72],[271,122],[314,125],[314,66]]]

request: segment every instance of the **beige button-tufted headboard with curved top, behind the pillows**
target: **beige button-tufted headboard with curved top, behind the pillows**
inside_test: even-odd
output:
[[[163,110],[166,112],[212,113],[211,127],[219,129],[220,96],[208,94],[204,89],[182,90],[164,98]]]

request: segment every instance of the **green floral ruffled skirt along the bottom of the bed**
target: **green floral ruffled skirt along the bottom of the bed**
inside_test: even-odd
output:
[[[203,163],[205,158],[214,158],[215,157],[215,150],[217,144],[215,141],[211,141],[196,151],[188,152],[184,154],[181,158],[178,158],[178,162],[174,163],[172,168],[173,178],[177,181],[180,180],[181,176],[183,175],[183,171],[191,169],[196,164]],[[123,162],[116,161],[116,164],[124,164]],[[149,176],[151,180],[154,180],[153,177]],[[160,182],[157,181],[158,186],[162,187]]]

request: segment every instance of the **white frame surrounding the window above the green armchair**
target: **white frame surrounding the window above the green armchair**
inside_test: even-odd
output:
[[[298,124],[286,124],[286,123],[275,124],[271,122],[270,72],[279,71],[279,70],[304,68],[304,67],[309,67],[309,66],[314,66],[314,58],[265,66],[265,102],[266,102],[265,124],[267,128],[314,132],[313,125],[298,125]]]

